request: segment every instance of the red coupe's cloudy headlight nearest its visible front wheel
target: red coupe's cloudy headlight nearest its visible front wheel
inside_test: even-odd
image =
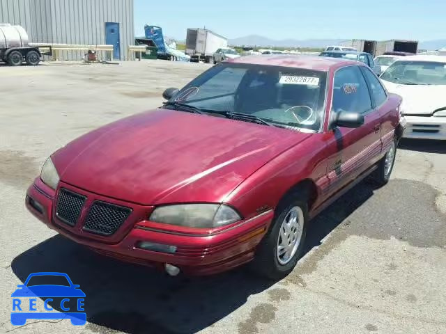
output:
[[[241,217],[227,205],[181,204],[157,207],[149,219],[188,228],[218,228],[240,221]]]

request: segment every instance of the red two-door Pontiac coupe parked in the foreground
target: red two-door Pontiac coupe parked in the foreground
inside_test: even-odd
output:
[[[401,97],[345,59],[244,56],[163,96],[52,154],[29,211],[171,275],[254,260],[277,279],[302,255],[311,218],[367,175],[389,180],[403,132]]]

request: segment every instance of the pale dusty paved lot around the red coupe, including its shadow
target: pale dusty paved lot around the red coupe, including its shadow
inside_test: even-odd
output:
[[[383,189],[360,184],[323,212],[286,279],[245,269],[166,278],[93,255],[26,212],[26,187],[57,148],[159,106],[203,64],[0,65],[0,331],[17,333],[446,333],[446,143],[403,141]],[[10,324],[10,294],[36,271],[68,273],[86,326]]]

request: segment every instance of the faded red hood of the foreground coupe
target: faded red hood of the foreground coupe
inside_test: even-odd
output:
[[[156,109],[101,127],[53,154],[63,182],[142,205],[222,202],[312,134]]]

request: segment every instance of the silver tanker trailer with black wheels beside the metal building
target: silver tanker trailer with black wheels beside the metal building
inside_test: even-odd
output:
[[[28,65],[38,65],[43,56],[39,47],[29,45],[28,34],[22,26],[0,24],[0,61],[11,66],[20,66],[24,61]],[[49,46],[45,48],[51,50]],[[51,51],[45,54],[51,54]]]

